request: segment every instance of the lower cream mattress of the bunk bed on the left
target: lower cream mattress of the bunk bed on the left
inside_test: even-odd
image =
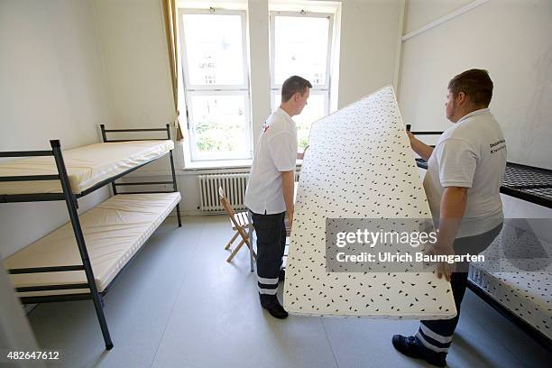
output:
[[[180,200],[180,193],[120,194],[79,216],[98,291],[121,271]],[[82,264],[71,224],[5,259],[5,268]],[[84,271],[10,275],[14,287],[87,282]],[[19,293],[20,297],[85,293],[50,290]]]

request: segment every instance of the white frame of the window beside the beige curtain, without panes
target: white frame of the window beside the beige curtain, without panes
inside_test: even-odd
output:
[[[242,52],[243,52],[243,75],[244,83],[241,85],[194,85],[190,83],[189,60],[186,57],[186,35],[184,32],[183,16],[185,14],[214,14],[214,15],[239,15],[241,19],[242,30]],[[245,10],[227,10],[227,9],[195,9],[179,8],[179,41],[180,41],[180,60],[183,80],[184,107],[186,108],[186,123],[189,133],[189,142],[187,152],[189,153],[190,163],[202,161],[239,161],[253,159],[253,123],[251,117],[251,89],[249,75],[249,59],[247,45],[247,12]],[[198,152],[198,140],[195,124],[191,121],[191,97],[192,96],[244,96],[244,120],[245,120],[245,139],[247,144],[246,156],[230,154],[228,152]]]

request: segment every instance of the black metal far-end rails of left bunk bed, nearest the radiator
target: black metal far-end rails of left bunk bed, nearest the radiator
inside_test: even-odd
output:
[[[147,128],[147,129],[145,129],[145,128],[144,129],[106,129],[105,124],[100,124],[100,129],[101,129],[101,132],[102,132],[102,140],[103,140],[104,143],[128,142],[128,141],[159,141],[159,139],[117,139],[117,140],[113,140],[113,139],[108,139],[107,138],[107,133],[166,132],[167,133],[167,138],[166,139],[168,139],[169,141],[172,139],[170,137],[170,124],[165,124],[164,128]],[[155,191],[154,190],[150,190],[150,191],[133,191],[133,192],[122,192],[122,193],[117,192],[117,187],[134,186],[134,185],[170,184],[170,185],[172,185],[172,190],[169,193],[179,191],[179,189],[177,187],[177,182],[176,182],[176,172],[174,170],[174,158],[173,158],[172,151],[173,150],[169,151],[170,171],[171,171],[171,175],[172,175],[172,180],[171,181],[142,181],[142,182],[132,182],[132,183],[115,183],[115,179],[118,179],[118,177],[117,177],[113,181],[111,181],[111,189],[113,189],[113,195],[115,196],[117,194],[168,193],[167,191],[159,191],[159,190],[155,190]],[[181,215],[180,215],[180,205],[179,204],[176,205],[176,210],[177,210],[177,217],[178,217],[178,220],[179,220],[179,227],[181,227],[182,226],[182,219],[181,219]]]

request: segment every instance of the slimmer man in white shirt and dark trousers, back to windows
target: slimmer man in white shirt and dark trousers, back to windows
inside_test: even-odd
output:
[[[245,206],[252,213],[257,235],[257,286],[262,308],[276,318],[288,317],[276,297],[286,246],[284,216],[293,222],[293,184],[297,152],[297,128],[291,117],[307,105],[310,82],[293,76],[281,87],[281,106],[264,125],[253,157]]]

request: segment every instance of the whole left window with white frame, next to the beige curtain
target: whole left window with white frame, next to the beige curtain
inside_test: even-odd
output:
[[[245,12],[179,11],[191,161],[252,158]]]

